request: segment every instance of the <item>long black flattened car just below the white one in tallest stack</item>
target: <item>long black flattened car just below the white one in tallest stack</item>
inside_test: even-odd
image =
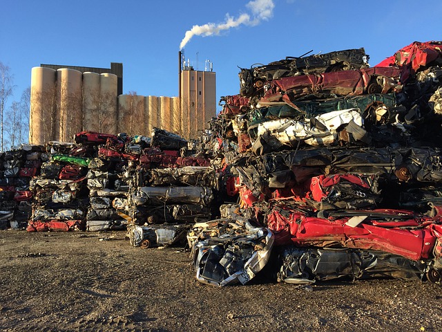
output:
[[[442,181],[441,150],[430,147],[299,149],[266,154],[261,160],[266,174],[281,167],[319,167],[323,174],[382,174],[390,181],[409,183]]]

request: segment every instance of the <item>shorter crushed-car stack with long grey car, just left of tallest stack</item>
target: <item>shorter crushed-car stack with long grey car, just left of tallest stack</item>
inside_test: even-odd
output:
[[[218,175],[193,142],[153,129],[151,147],[140,155],[134,175],[128,226],[133,246],[182,244],[192,223],[211,219]]]

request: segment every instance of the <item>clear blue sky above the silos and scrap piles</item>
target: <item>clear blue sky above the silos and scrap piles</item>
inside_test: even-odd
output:
[[[256,6],[265,6],[265,15]],[[373,66],[414,41],[442,40],[442,1],[350,0],[0,0],[0,62],[19,100],[40,64],[124,66],[124,93],[178,94],[178,51],[193,26],[228,26],[193,35],[186,59],[210,59],[217,98],[239,93],[238,66],[267,64],[309,50],[365,48]],[[273,6],[268,6],[272,4]],[[244,20],[244,17],[248,19]],[[313,54],[311,53],[311,54]],[[197,62],[198,60],[198,62]]]

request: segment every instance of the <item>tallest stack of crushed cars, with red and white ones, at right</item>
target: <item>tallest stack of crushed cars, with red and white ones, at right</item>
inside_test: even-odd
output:
[[[371,68],[360,48],[240,71],[213,128],[238,145],[237,213],[273,234],[278,281],[441,279],[441,45],[414,42]],[[219,250],[225,234],[202,255],[200,232],[195,270],[217,271],[202,282],[224,284],[233,261],[255,274]]]

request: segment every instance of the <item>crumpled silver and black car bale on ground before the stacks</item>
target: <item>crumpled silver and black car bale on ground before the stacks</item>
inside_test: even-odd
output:
[[[269,260],[273,248],[269,229],[254,227],[249,222],[242,225],[225,222],[213,229],[213,237],[193,242],[196,279],[202,284],[247,284]]]

